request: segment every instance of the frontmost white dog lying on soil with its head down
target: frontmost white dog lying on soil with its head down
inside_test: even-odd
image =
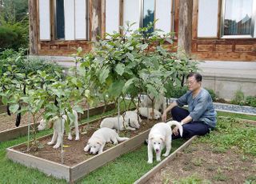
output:
[[[90,150],[90,154],[101,154],[106,142],[118,144],[118,142],[126,141],[128,139],[130,138],[120,138],[115,130],[103,127],[94,132],[83,150],[86,152]]]

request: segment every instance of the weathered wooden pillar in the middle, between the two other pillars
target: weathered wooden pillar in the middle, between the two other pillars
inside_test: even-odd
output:
[[[91,19],[91,41],[95,42],[102,35],[102,2],[101,0],[90,0]]]

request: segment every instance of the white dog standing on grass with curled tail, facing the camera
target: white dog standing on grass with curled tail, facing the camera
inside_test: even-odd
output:
[[[161,152],[165,146],[166,153],[163,154],[163,156],[167,157],[170,154],[172,134],[171,126],[173,125],[178,126],[178,130],[182,136],[182,125],[176,121],[158,122],[151,128],[147,145],[148,163],[153,162],[153,150],[155,151],[158,162],[161,161]]]

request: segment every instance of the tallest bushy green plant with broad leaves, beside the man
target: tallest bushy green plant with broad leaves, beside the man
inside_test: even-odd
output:
[[[132,30],[134,23],[122,26],[122,33],[106,34],[107,39],[94,43],[94,52],[83,57],[93,94],[117,102],[130,96],[131,102],[141,94],[166,94],[166,84],[182,86],[184,76],[197,70],[197,62],[171,53],[166,43],[171,34],[161,36],[154,26]],[[97,89],[98,88],[98,89]],[[99,95],[100,94],[100,95]],[[135,102],[134,102],[135,104]],[[138,101],[139,106],[139,101]]]

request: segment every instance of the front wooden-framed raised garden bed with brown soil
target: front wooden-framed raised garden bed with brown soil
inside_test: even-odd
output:
[[[66,137],[64,138],[63,143],[66,146],[64,148],[64,164],[61,164],[61,149],[54,150],[52,146],[46,145],[46,142],[50,141],[52,135],[38,139],[44,147],[37,152],[26,153],[26,143],[22,143],[8,148],[7,157],[14,162],[38,168],[38,170],[53,175],[55,178],[64,178],[68,182],[74,182],[106,162],[110,162],[114,158],[142,145],[150,132],[150,127],[155,122],[157,121],[147,122],[146,119],[143,119],[139,130],[120,132],[120,136],[130,137],[130,140],[119,143],[114,147],[112,147],[112,144],[108,144],[105,146],[102,154],[95,156],[86,154],[83,148],[86,146],[86,142],[91,134],[94,133],[94,130],[98,129],[100,122],[96,119],[82,124],[79,126],[80,132],[85,132],[86,134],[81,134],[80,141],[70,142]]]

